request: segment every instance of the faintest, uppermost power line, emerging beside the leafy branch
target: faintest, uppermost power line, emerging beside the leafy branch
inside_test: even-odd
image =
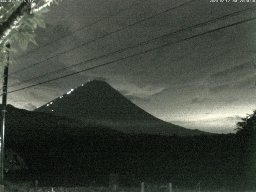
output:
[[[70,32],[69,34],[67,34],[67,35],[65,35],[65,36],[62,36],[62,37],[60,37],[60,38],[58,38],[58,39],[56,39],[56,40],[54,40],[54,41],[48,42],[48,43],[44,44],[43,46],[41,46],[41,47],[39,47],[39,48],[37,48],[37,49],[35,49],[35,50],[33,50],[33,51],[30,51],[30,52],[28,52],[28,53],[26,53],[26,54],[22,54],[22,55],[18,56],[17,59],[22,58],[22,57],[24,57],[24,56],[27,56],[27,55],[29,55],[29,54],[31,54],[31,53],[33,53],[33,52],[36,52],[37,50],[39,50],[39,49],[41,49],[41,48],[44,48],[44,47],[46,47],[46,46],[48,46],[48,45],[51,45],[51,44],[53,44],[53,43],[55,43],[55,42],[57,42],[57,41],[59,41],[59,40],[62,40],[62,39],[64,39],[64,38],[67,38],[68,36],[70,36],[70,35],[72,35],[72,34],[78,32],[78,31],[80,31],[80,30],[83,30],[83,29],[85,29],[85,28],[87,28],[87,27],[90,27],[90,26],[92,26],[92,25],[94,25],[94,24],[97,24],[98,22],[102,22],[102,21],[105,20],[105,19],[108,19],[108,18],[111,18],[111,17],[113,17],[113,16],[116,16],[116,15],[120,14],[121,12],[124,12],[124,11],[126,11],[126,10],[128,10],[128,9],[130,9],[130,8],[133,8],[134,6],[137,6],[137,5],[141,4],[141,3],[142,3],[142,2],[135,3],[135,4],[131,5],[131,6],[128,6],[128,7],[125,8],[125,9],[119,10],[118,12],[116,12],[116,14],[112,14],[112,15],[110,15],[110,16],[108,16],[108,17],[103,17],[103,18],[101,18],[101,19],[99,19],[99,20],[97,20],[97,21],[94,21],[94,22],[92,22],[92,23],[90,23],[90,24],[88,24],[88,25],[82,26],[81,28],[78,28],[77,30],[74,30],[73,32]]]

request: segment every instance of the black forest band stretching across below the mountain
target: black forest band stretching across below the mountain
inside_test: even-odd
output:
[[[42,118],[38,113],[19,112],[30,118],[9,118],[6,147],[23,158],[28,170],[17,176],[7,173],[9,180],[39,180],[41,186],[108,185],[108,175],[119,173],[122,186],[145,181],[190,189],[200,182],[205,190],[256,187],[252,132],[186,137],[124,134],[79,127],[73,120],[51,120],[49,114]]]

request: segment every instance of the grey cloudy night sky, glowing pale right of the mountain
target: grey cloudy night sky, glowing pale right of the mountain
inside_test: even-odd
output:
[[[256,3],[232,0],[194,0],[172,9],[190,1],[63,0],[45,14],[46,29],[36,31],[38,46],[30,44],[23,51],[13,45],[18,51],[11,55],[15,62],[9,70],[12,73],[54,57],[11,75],[8,84],[17,84],[256,6]],[[256,109],[256,20],[172,43],[255,16],[256,9],[252,8],[52,76],[12,86],[9,91],[170,44],[101,68],[10,93],[8,103],[33,110],[88,80],[102,79],[162,120],[209,132],[234,132],[236,122]],[[67,37],[61,38],[64,36]],[[80,47],[75,48],[77,46]],[[72,48],[75,49],[68,51]]]

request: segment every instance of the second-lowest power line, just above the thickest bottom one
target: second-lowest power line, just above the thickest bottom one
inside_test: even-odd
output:
[[[68,66],[68,67],[65,67],[65,68],[61,68],[61,69],[59,69],[59,70],[55,70],[55,71],[50,72],[50,73],[47,73],[47,74],[43,74],[43,75],[41,75],[41,76],[37,76],[37,77],[35,77],[35,78],[31,78],[31,79],[25,80],[25,81],[20,82],[20,83],[17,83],[17,84],[12,84],[12,85],[10,85],[9,87],[17,86],[17,85],[20,85],[20,84],[24,84],[24,83],[26,83],[26,82],[30,82],[30,81],[32,81],[32,80],[36,80],[36,79],[43,78],[43,77],[46,77],[46,76],[49,76],[49,75],[52,75],[52,74],[56,74],[56,73],[58,73],[58,72],[67,70],[67,69],[72,68],[72,67],[76,67],[76,66],[81,65],[81,64],[90,63],[90,62],[93,62],[93,61],[95,61],[95,60],[99,60],[99,59],[101,59],[101,58],[105,58],[105,57],[107,57],[107,56],[114,55],[114,54],[116,54],[116,53],[123,52],[123,51],[125,51],[125,50],[131,49],[131,48],[135,48],[135,47],[140,46],[140,45],[143,45],[143,44],[148,44],[148,43],[153,42],[153,41],[155,41],[155,40],[158,40],[158,39],[160,39],[160,38],[166,38],[166,37],[171,36],[171,35],[173,35],[173,34],[176,34],[176,33],[178,33],[178,32],[182,32],[182,31],[186,31],[186,30],[189,30],[189,29],[197,28],[197,27],[199,27],[199,26],[205,26],[205,25],[207,25],[207,24],[211,24],[211,23],[213,23],[213,22],[216,22],[216,21],[218,21],[218,20],[224,19],[224,18],[226,18],[226,17],[234,16],[234,15],[237,15],[237,14],[240,14],[240,13],[243,13],[243,12],[246,12],[246,11],[248,11],[248,10],[253,10],[253,9],[256,9],[256,6],[253,6],[252,8],[247,8],[247,9],[244,9],[244,10],[240,10],[240,11],[234,12],[234,13],[232,13],[232,14],[227,14],[227,15],[224,15],[224,16],[221,16],[221,17],[218,17],[218,18],[215,18],[215,19],[206,21],[206,22],[202,22],[202,23],[196,24],[196,25],[194,25],[194,26],[186,27],[186,28],[180,29],[180,30],[178,30],[178,31],[171,32],[171,33],[169,33],[169,34],[164,34],[164,35],[158,36],[158,37],[156,37],[156,38],[152,38],[152,39],[150,39],[150,40],[147,40],[147,41],[144,41],[144,42],[140,42],[140,43],[138,43],[138,44],[135,44],[135,45],[132,45],[132,46],[128,46],[128,47],[126,47],[126,48],[122,48],[122,49],[120,49],[120,50],[117,50],[117,51],[114,51],[114,52],[111,52],[111,53],[108,53],[108,54],[105,54],[105,55],[102,55],[102,56],[98,56],[98,57],[96,57],[96,58],[92,58],[92,59],[89,59],[89,60],[86,60],[86,61],[83,61],[83,62],[74,64],[74,65],[71,65],[71,66]]]

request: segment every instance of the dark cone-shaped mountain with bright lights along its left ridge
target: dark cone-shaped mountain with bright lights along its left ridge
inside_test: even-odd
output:
[[[180,136],[209,134],[160,120],[142,110],[108,83],[93,80],[34,110],[75,118],[126,133]]]

